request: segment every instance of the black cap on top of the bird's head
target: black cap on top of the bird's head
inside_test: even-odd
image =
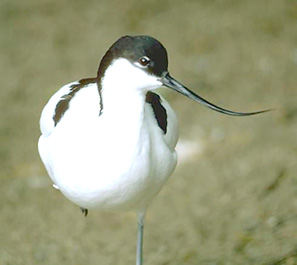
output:
[[[114,59],[126,58],[131,62],[138,62],[142,57],[149,59],[145,69],[149,73],[161,76],[167,71],[167,51],[159,41],[149,36],[124,36],[118,39],[102,58],[98,77],[104,75]]]

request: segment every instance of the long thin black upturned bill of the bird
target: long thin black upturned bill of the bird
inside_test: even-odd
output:
[[[206,106],[212,110],[215,110],[215,111],[227,114],[227,115],[250,116],[250,115],[255,115],[255,114],[260,114],[260,113],[270,111],[270,109],[268,109],[268,110],[261,110],[261,111],[255,111],[255,112],[235,112],[235,111],[223,109],[221,107],[218,107],[218,106],[208,102],[207,100],[203,99],[202,97],[198,96],[197,94],[195,94],[194,92],[192,92],[191,90],[189,90],[188,88],[183,86],[181,83],[179,83],[177,80],[175,80],[173,77],[171,77],[168,73],[164,77],[162,77],[161,82],[163,83],[164,86],[169,87],[169,88],[185,95],[186,97],[202,104],[203,106]]]

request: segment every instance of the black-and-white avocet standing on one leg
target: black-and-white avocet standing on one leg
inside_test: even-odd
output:
[[[64,85],[40,117],[38,150],[53,186],[89,210],[136,211],[136,265],[143,264],[147,208],[177,164],[178,121],[156,92],[170,88],[212,110],[234,112],[189,90],[168,71],[168,54],[155,38],[123,36],[107,50],[97,76]]]

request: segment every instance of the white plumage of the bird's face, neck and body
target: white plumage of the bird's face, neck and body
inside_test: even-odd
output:
[[[164,134],[145,102],[147,91],[161,83],[128,60],[116,60],[102,81],[103,113],[99,116],[98,87],[92,83],[75,94],[55,126],[56,105],[72,84],[42,111],[38,148],[48,174],[81,207],[144,210],[177,162],[175,113],[161,98],[168,122]]]

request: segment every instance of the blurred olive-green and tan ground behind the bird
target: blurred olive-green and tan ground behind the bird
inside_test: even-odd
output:
[[[40,112],[96,74],[120,36],[146,34],[171,75],[259,116],[224,116],[163,91],[180,163],[153,201],[145,264],[297,264],[297,2],[0,2],[0,264],[134,264],[135,213],[90,212],[52,188],[37,153]]]

